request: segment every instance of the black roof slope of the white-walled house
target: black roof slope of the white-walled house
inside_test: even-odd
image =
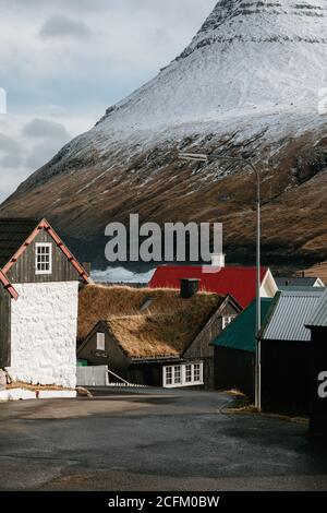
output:
[[[21,248],[40,219],[0,217],[0,269],[3,267]]]

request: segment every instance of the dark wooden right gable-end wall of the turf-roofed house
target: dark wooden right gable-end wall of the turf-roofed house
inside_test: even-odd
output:
[[[211,343],[222,331],[222,317],[237,315],[239,311],[228,302],[220,308],[206,324],[205,329],[183,354],[185,359],[201,359],[204,362],[203,375],[206,389],[215,387],[214,346]]]

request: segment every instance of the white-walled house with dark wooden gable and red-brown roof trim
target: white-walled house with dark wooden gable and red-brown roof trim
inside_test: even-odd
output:
[[[14,381],[76,386],[81,279],[46,219],[0,219],[0,368]]]

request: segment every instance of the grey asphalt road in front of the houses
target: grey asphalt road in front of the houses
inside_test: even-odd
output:
[[[1,490],[327,490],[306,426],[216,392],[97,390],[0,404]]]

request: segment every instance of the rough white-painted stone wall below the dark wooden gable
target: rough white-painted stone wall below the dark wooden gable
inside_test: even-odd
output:
[[[10,375],[33,384],[76,386],[78,283],[15,284]]]

